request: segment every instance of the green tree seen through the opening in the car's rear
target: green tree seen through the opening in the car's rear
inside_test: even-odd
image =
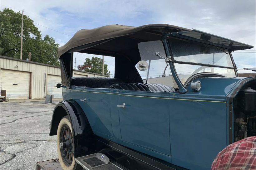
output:
[[[83,65],[77,66],[78,70],[102,74],[102,59],[99,57],[86,58]],[[104,64],[104,75],[109,75],[108,65]]]

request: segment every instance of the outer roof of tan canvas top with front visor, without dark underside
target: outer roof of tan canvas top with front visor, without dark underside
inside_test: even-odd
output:
[[[60,56],[62,56],[66,52],[77,52],[81,51],[81,49],[89,48],[90,46],[82,48],[82,46],[88,44],[94,43],[92,46],[95,46],[97,45],[96,42],[103,43],[102,41],[104,40],[109,41],[116,37],[127,36],[138,32],[154,32],[158,33],[159,35],[163,34],[164,32],[180,32],[179,34],[176,34],[174,36],[224,47],[231,51],[253,48],[253,46],[206,32],[201,32],[194,29],[190,30],[168,24],[149,24],[140,27],[107,25],[90,30],[80,30],[76,32],[75,35],[64,46],[61,46],[58,49],[58,57],[60,58]],[[140,37],[140,39],[143,39],[143,37]],[[145,39],[145,41],[146,40],[147,39]]]

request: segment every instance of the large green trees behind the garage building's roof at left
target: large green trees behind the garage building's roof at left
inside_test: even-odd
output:
[[[9,8],[0,11],[0,55],[20,58],[21,12]],[[23,59],[31,52],[31,61],[60,65],[57,56],[59,44],[46,35],[42,39],[41,31],[27,15],[23,16]]]

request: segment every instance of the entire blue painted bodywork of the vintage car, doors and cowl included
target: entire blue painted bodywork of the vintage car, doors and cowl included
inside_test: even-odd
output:
[[[198,78],[201,90],[188,86],[185,94],[71,87],[63,89],[63,100],[81,106],[98,136],[190,170],[209,170],[229,143],[230,94],[246,79]]]

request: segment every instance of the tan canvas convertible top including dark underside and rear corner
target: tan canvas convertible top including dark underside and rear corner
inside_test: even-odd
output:
[[[107,25],[90,30],[80,30],[64,46],[58,49],[62,84],[65,86],[70,85],[73,52],[113,56],[115,57],[115,62],[118,63],[115,65],[115,70],[118,70],[115,73],[115,77],[122,78],[124,75],[129,77],[133,74],[127,74],[122,70],[132,71],[131,68],[141,60],[138,44],[146,41],[162,41],[163,36],[167,35],[186,41],[218,46],[229,51],[253,48],[253,46],[206,32],[168,24],[150,24],[140,27]]]

